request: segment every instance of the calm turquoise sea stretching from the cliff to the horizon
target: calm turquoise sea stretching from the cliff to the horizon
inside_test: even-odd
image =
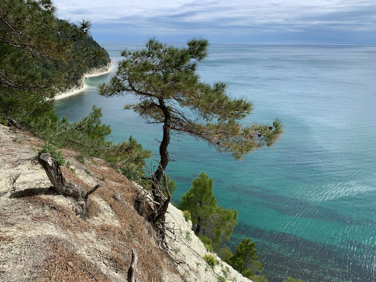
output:
[[[119,49],[143,44],[101,43],[114,61]],[[174,200],[208,173],[218,203],[239,211],[230,246],[255,240],[271,282],[376,281],[376,45],[212,43],[209,51],[202,80],[228,82],[231,95],[254,103],[246,123],[279,117],[285,135],[241,162],[189,137],[173,141]],[[88,89],[57,101],[56,112],[74,121],[96,104],[111,139],[132,134],[157,154],[161,127],[123,110],[131,97],[97,95],[106,79],[86,79]]]

